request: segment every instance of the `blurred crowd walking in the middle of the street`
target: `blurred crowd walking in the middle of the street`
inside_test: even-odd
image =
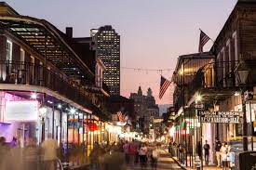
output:
[[[125,167],[120,167],[122,165],[131,168],[140,165],[141,169],[144,169],[149,163],[152,169],[156,169],[159,153],[160,145],[136,140],[120,140],[119,143],[113,145],[95,143],[89,157],[92,169],[125,169]]]

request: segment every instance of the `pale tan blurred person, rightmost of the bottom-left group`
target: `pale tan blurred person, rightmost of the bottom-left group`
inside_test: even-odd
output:
[[[43,151],[44,170],[55,170],[58,160],[58,141],[50,137],[51,134],[48,134],[48,138],[41,145]]]

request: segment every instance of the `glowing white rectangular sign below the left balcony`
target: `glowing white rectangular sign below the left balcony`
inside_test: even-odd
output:
[[[7,101],[6,121],[30,122],[38,119],[38,101]]]

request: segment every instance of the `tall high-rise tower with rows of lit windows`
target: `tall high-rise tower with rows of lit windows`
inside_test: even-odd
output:
[[[106,67],[104,83],[108,85],[111,95],[120,95],[120,35],[111,25],[91,29],[90,36],[93,49]]]

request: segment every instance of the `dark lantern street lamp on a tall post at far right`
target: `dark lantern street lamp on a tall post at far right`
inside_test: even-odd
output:
[[[246,82],[249,75],[249,69],[246,67],[244,60],[241,60],[235,70],[236,78],[241,90],[241,99],[242,99],[242,111],[243,111],[243,149],[244,151],[248,150],[248,137],[247,137],[247,119],[246,119],[246,100],[244,98],[244,92],[246,87]]]

